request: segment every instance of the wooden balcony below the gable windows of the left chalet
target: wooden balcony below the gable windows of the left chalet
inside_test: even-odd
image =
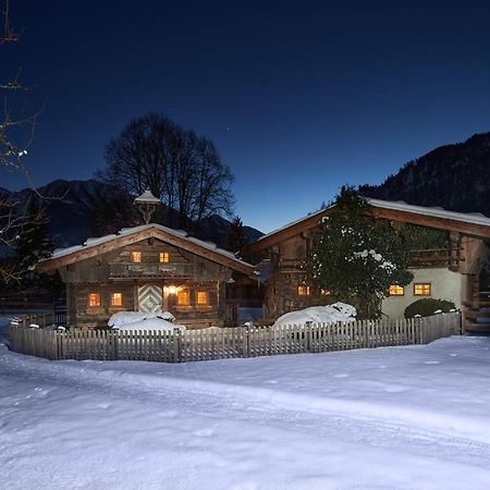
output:
[[[192,264],[110,264],[110,279],[182,278],[193,277]]]

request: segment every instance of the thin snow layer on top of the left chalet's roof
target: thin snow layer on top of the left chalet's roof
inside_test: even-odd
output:
[[[117,240],[120,240],[120,238],[122,238],[124,236],[130,236],[132,234],[144,232],[146,230],[151,230],[151,229],[160,231],[163,234],[168,234],[168,235],[171,235],[173,237],[176,237],[176,238],[180,238],[180,240],[184,240],[185,242],[189,242],[192,244],[195,244],[198,247],[207,249],[207,250],[210,250],[210,252],[212,252],[215,254],[219,254],[219,255],[225,257],[229,260],[233,260],[237,265],[241,265],[241,266],[244,266],[244,267],[248,267],[248,268],[253,267],[248,262],[245,262],[244,260],[241,260],[241,259],[236,258],[235,254],[233,254],[232,252],[219,248],[215,243],[204,242],[203,240],[198,240],[198,238],[196,238],[194,236],[189,236],[187,234],[187,232],[185,232],[183,230],[173,230],[171,228],[167,228],[167,226],[163,226],[161,224],[156,224],[156,223],[143,224],[140,226],[133,226],[133,228],[123,228],[118,234],[110,234],[110,235],[100,236],[100,237],[96,237],[96,238],[87,238],[84,242],[83,245],[75,245],[75,246],[68,247],[68,248],[57,248],[52,253],[51,257],[49,257],[47,259],[42,259],[39,262],[46,262],[46,261],[59,259],[61,257],[66,257],[66,256],[72,255],[72,254],[76,254],[76,253],[78,253],[81,250],[87,250],[87,249],[89,249],[91,247],[96,247],[98,245],[102,245],[105,243],[117,241]]]

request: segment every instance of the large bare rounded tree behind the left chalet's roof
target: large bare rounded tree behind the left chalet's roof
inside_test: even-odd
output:
[[[150,112],[135,119],[106,148],[103,181],[133,196],[145,188],[170,210],[171,226],[185,228],[210,215],[230,215],[233,174],[212,142]]]

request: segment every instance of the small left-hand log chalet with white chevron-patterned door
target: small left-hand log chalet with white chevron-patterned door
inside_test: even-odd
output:
[[[118,311],[172,313],[188,327],[225,322],[226,282],[254,277],[234,254],[159,224],[121,230],[58,249],[39,272],[58,270],[72,327],[107,326]]]

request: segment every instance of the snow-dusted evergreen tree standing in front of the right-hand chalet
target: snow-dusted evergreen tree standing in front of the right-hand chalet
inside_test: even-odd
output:
[[[322,226],[306,262],[315,285],[354,303],[360,318],[379,317],[390,284],[413,279],[405,241],[389,221],[369,216],[367,200],[353,187],[342,187]]]

